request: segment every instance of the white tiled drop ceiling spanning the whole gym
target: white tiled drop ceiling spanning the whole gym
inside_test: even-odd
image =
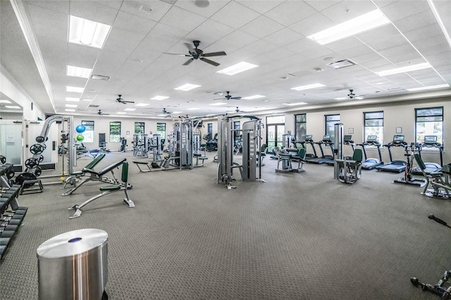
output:
[[[431,10],[435,6],[438,15]],[[29,24],[36,44],[30,51],[20,28]],[[388,25],[321,45],[307,37],[364,13],[380,9]],[[111,25],[103,49],[68,43],[70,15]],[[438,20],[443,21],[440,27]],[[447,1],[1,1],[1,65],[46,113],[159,118],[166,108],[180,115],[233,111],[302,111],[321,106],[449,96],[407,89],[451,83],[451,8]],[[185,43],[199,40],[218,66],[194,60],[183,65]],[[36,51],[42,64],[35,63]],[[35,52],[33,52],[35,51]],[[354,65],[330,68],[350,60]],[[258,65],[237,75],[217,73],[235,63]],[[381,77],[376,72],[430,63],[431,68]],[[66,66],[92,68],[109,80],[69,77]],[[42,80],[42,74],[48,77]],[[46,84],[47,82],[47,84]],[[200,85],[188,92],[176,87]],[[292,87],[321,83],[297,91]],[[84,92],[66,92],[66,86]],[[363,99],[347,99],[350,89]],[[259,99],[214,100],[218,92]],[[125,101],[116,99],[118,94]],[[151,100],[154,96],[167,99]],[[66,97],[81,99],[66,111]],[[342,100],[336,99],[345,98]],[[287,104],[306,103],[299,106]],[[224,103],[219,106],[211,104]],[[72,104],[72,103],[71,103]],[[136,106],[147,104],[147,106]],[[124,111],[128,108],[127,111]],[[136,108],[130,111],[130,108]],[[193,109],[197,108],[197,109]]]

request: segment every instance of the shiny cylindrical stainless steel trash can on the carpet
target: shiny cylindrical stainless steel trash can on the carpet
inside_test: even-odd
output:
[[[108,234],[81,229],[57,235],[37,249],[39,299],[102,299],[108,280]]]

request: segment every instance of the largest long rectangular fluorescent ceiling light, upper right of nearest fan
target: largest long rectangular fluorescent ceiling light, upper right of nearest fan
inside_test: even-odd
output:
[[[382,11],[376,9],[375,11],[370,11],[357,18],[347,20],[346,22],[317,32],[314,35],[309,35],[307,38],[318,42],[321,45],[325,45],[338,41],[339,39],[351,37],[352,35],[357,35],[361,32],[387,25],[388,23],[390,23],[390,20],[385,17]]]

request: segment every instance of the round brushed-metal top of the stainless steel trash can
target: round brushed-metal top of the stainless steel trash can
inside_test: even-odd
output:
[[[82,254],[98,246],[104,246],[108,233],[104,230],[87,228],[56,235],[37,248],[37,256],[61,258]]]

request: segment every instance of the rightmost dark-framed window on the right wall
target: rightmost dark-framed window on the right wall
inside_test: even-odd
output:
[[[443,106],[415,108],[415,142],[424,142],[425,135],[437,136],[437,142],[443,145]]]

